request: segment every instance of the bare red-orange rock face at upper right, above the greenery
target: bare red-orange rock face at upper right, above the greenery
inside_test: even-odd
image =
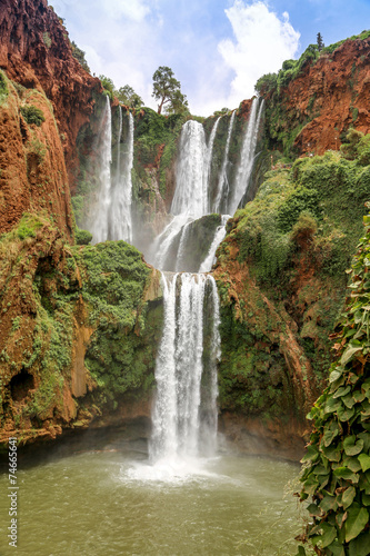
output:
[[[294,147],[300,153],[338,150],[350,127],[369,133],[370,38],[347,40],[332,53],[321,53],[281,89],[278,99],[271,91],[264,98],[267,105],[279,105],[271,127],[297,129]]]

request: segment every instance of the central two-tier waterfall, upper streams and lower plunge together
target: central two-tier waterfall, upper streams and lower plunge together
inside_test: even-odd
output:
[[[243,139],[241,162],[232,190],[228,181],[228,161],[234,112],[213,209],[231,215],[244,196],[252,170],[261,106],[252,103]],[[166,268],[171,255],[174,272],[162,274],[164,301],[162,339],[156,363],[157,396],[152,409],[152,435],[149,445],[153,469],[164,464],[166,477],[173,466],[188,458],[210,456],[217,448],[217,364],[220,358],[219,298],[210,271],[219,244],[226,236],[229,215],[221,216],[199,274],[179,272],[186,262],[186,245],[196,219],[210,212],[210,173],[213,141],[220,118],[214,122],[208,146],[203,127],[184,123],[178,157],[177,185],[172,200],[173,220],[157,238],[158,268]],[[230,201],[231,197],[231,201]],[[171,470],[170,470],[171,469]]]

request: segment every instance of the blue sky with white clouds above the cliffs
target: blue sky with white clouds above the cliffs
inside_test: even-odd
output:
[[[51,0],[91,72],[157,108],[152,76],[172,69],[191,113],[237,108],[257,80],[370,27],[370,0]]]

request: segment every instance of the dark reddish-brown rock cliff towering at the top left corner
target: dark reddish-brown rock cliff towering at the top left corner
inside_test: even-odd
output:
[[[0,68],[10,79],[44,91],[51,100],[73,188],[76,139],[93,111],[93,93],[102,88],[73,58],[68,32],[47,0],[1,1]]]

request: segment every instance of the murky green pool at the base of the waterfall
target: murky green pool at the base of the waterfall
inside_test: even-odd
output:
[[[101,446],[99,446],[101,448]],[[298,467],[227,453],[148,464],[144,441],[111,441],[18,471],[18,547],[8,546],[8,475],[0,477],[0,554],[27,556],[296,554]]]

